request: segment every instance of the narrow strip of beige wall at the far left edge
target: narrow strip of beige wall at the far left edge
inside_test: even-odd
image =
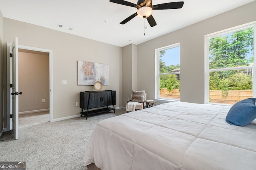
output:
[[[3,125],[3,43],[4,43],[4,21],[3,16],[0,11],[0,137],[2,135],[4,125]]]

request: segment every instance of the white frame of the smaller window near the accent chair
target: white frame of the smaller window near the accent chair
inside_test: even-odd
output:
[[[158,101],[160,101],[160,102],[170,102],[170,101],[173,101],[173,100],[175,100],[175,101],[180,101],[180,99],[178,100],[178,99],[168,99],[168,98],[160,98],[159,96],[160,96],[160,90],[159,90],[159,76],[160,75],[168,75],[168,74],[177,74],[177,73],[175,73],[175,72],[173,72],[173,73],[162,73],[162,74],[160,74],[159,73],[159,70],[160,70],[160,68],[159,68],[159,52],[160,51],[164,51],[164,50],[167,50],[167,49],[172,49],[172,48],[175,48],[175,47],[180,47],[180,43],[176,43],[176,44],[172,44],[172,45],[168,45],[168,46],[165,46],[165,47],[161,47],[161,48],[158,48],[158,49],[155,49],[155,63],[156,63],[156,66],[155,66],[155,68],[156,68],[156,77],[155,77],[155,87],[156,87],[156,89],[155,89],[155,98],[156,99],[158,99]],[[179,73],[180,74],[180,73]]]

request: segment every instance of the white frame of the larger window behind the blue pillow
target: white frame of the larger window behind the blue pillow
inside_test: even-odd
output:
[[[217,68],[217,69],[210,69],[209,68],[209,43],[210,43],[210,39],[213,38],[213,37],[219,37],[221,35],[225,35],[225,34],[228,34],[228,33],[232,33],[232,32],[236,32],[236,31],[240,31],[240,30],[243,30],[243,29],[247,29],[247,28],[251,28],[251,27],[254,27],[254,62],[253,62],[253,66],[238,66],[238,67],[232,67],[232,68]],[[211,33],[211,34],[208,34],[208,35],[205,35],[204,36],[205,40],[204,40],[204,44],[205,44],[205,103],[206,104],[215,104],[215,105],[228,105],[230,106],[229,104],[217,104],[217,103],[210,103],[209,99],[210,99],[210,95],[209,95],[209,73],[210,72],[214,72],[214,71],[225,71],[225,70],[240,70],[240,69],[252,69],[252,95],[253,95],[253,98],[255,98],[256,96],[256,21],[254,22],[250,22],[250,23],[246,23],[246,24],[243,24],[243,25],[239,25],[239,26],[236,26],[236,27],[232,27],[232,28],[229,28],[229,29],[225,29],[225,30],[222,30],[222,31],[218,31],[218,32],[215,32],[215,33]]]

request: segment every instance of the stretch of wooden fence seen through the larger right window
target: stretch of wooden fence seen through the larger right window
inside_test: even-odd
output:
[[[225,100],[225,96],[222,96],[221,90],[210,90],[209,98],[210,100]],[[252,90],[228,90],[226,101],[239,102],[247,98],[252,98]]]

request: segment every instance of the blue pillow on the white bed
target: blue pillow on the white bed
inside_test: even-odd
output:
[[[226,122],[230,125],[246,126],[256,119],[255,98],[241,100],[228,111]]]

